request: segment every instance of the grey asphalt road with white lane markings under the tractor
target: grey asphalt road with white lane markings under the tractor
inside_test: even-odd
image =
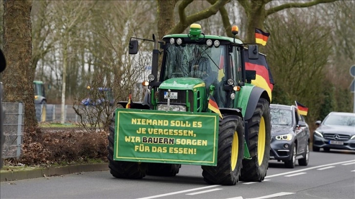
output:
[[[355,152],[311,152],[308,166],[287,169],[271,160],[263,182],[209,185],[200,166],[176,177],[115,179],[109,171],[0,183],[1,199],[355,199]]]

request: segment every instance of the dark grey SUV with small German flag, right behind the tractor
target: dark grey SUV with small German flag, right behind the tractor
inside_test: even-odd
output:
[[[294,168],[296,159],[307,166],[310,159],[310,129],[296,106],[270,104],[271,148],[270,160],[283,161],[286,168]]]

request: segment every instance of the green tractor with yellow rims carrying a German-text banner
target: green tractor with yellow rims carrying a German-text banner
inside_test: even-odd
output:
[[[201,165],[210,184],[262,181],[268,168],[273,80],[258,46],[205,35],[200,24],[188,34],[156,40],[152,74],[142,102],[118,102],[108,136],[112,176],[141,179],[176,176],[181,165]],[[129,53],[138,40],[131,38]],[[160,49],[158,49],[160,44]],[[159,55],[162,64],[158,73]]]

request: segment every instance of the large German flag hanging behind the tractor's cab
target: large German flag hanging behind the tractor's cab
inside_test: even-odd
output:
[[[249,60],[248,51],[244,50],[244,62],[246,71],[255,71],[255,80],[251,84],[264,88],[271,100],[271,92],[274,88],[274,80],[271,75],[270,67],[266,62],[266,56],[259,54],[258,60]]]

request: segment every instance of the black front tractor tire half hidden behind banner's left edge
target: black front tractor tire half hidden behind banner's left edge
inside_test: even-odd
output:
[[[148,168],[148,163],[113,160],[114,125],[115,114],[113,114],[113,118],[111,119],[110,134],[108,136],[109,145],[107,147],[109,151],[109,155],[107,156],[107,158],[109,159],[110,173],[113,177],[123,179],[141,179],[145,177],[146,170]]]

